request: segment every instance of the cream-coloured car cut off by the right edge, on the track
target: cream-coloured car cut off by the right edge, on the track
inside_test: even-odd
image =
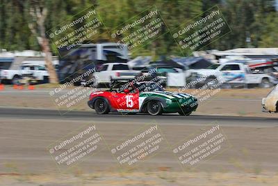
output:
[[[278,112],[278,85],[261,101],[263,111]]]

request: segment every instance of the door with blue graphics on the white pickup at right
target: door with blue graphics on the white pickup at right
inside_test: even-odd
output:
[[[224,82],[227,84],[244,84],[245,83],[245,72],[240,69],[238,64],[227,64],[223,65],[220,69]]]

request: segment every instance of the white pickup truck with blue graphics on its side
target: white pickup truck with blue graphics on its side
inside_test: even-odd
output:
[[[243,63],[215,63],[206,69],[188,71],[187,82],[196,81],[196,79],[200,81],[199,79],[201,79],[202,82],[198,83],[208,86],[213,86],[210,82],[221,82],[221,84],[228,84],[229,86],[260,86],[261,88],[269,88],[273,84],[277,84],[275,78],[270,75],[253,73]]]

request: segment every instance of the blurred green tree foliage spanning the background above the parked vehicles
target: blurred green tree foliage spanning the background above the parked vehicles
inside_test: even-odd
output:
[[[33,21],[29,14],[33,1],[0,1],[0,48],[40,50],[38,41],[28,28],[28,23]],[[117,26],[155,6],[165,22],[161,29],[163,36],[136,50],[133,56],[153,55],[157,58],[160,55],[188,54],[178,47],[169,31],[183,26],[215,4],[220,7],[231,33],[204,49],[278,47],[278,15],[273,0],[47,0],[41,3],[48,9],[45,22],[47,31],[66,20],[73,20],[74,15],[94,6],[105,26],[99,30],[97,39],[90,42],[113,41],[110,34],[117,29]],[[247,32],[251,36],[250,45],[246,42]],[[51,45],[51,48],[55,51],[54,45]]]

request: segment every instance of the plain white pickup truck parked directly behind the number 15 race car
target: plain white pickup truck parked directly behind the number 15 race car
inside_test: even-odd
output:
[[[97,72],[94,72],[93,77],[99,84],[109,84],[111,79],[117,77],[133,79],[140,73],[139,70],[131,70],[126,63],[104,63]]]

